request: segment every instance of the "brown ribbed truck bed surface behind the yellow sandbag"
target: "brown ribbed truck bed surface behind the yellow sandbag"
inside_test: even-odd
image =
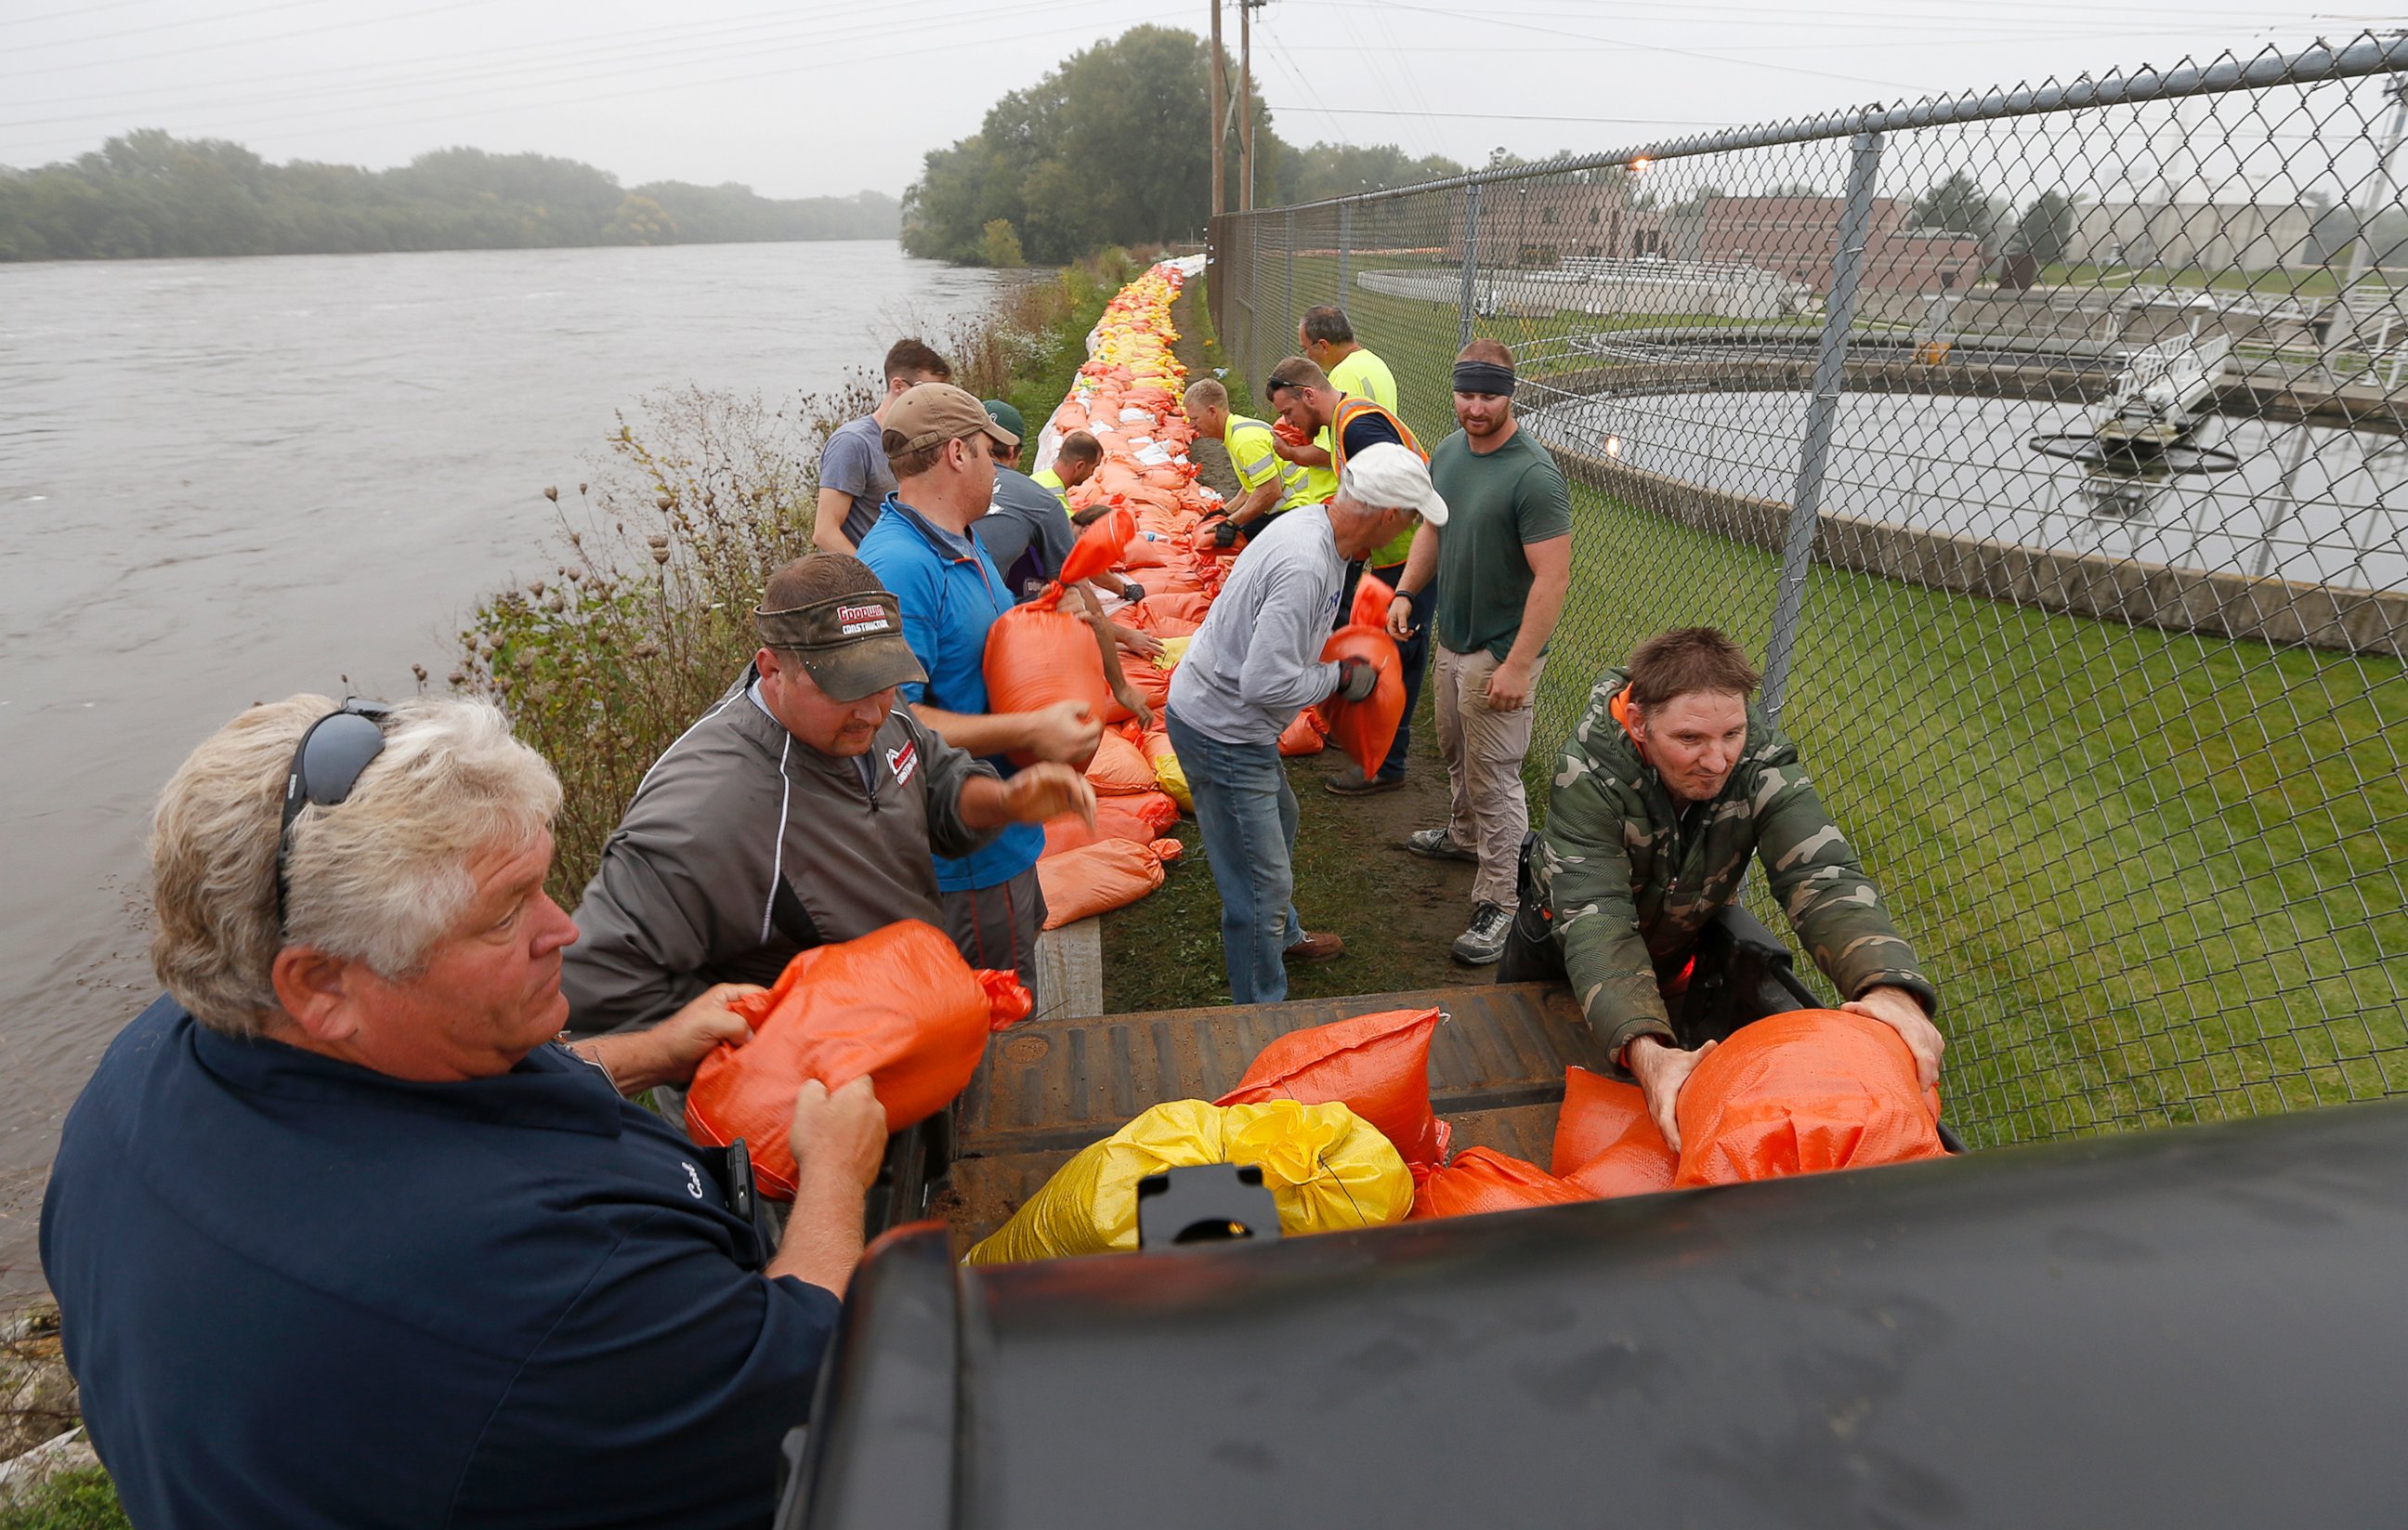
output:
[[[987,1046],[961,1096],[934,1210],[956,1251],[1002,1226],[1074,1152],[1168,1099],[1216,1099],[1264,1046],[1305,1026],[1438,1007],[1430,1106],[1457,1147],[1546,1164],[1568,1065],[1599,1067],[1572,995],[1553,983],[1421,988],[1281,1005],[1035,1019]]]

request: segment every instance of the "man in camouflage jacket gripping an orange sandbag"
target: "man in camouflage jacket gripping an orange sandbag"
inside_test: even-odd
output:
[[[1702,626],[1609,670],[1558,761],[1531,867],[1582,1012],[1674,1147],[1674,1101],[1714,1043],[1681,1048],[1664,985],[1739,899],[1751,853],[1845,1007],[1898,1029],[1922,1082],[1938,1079],[1938,995],[1753,689],[1746,653]]]

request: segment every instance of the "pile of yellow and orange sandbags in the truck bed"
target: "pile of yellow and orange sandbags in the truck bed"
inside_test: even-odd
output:
[[[1674,1154],[1640,1091],[1565,1077],[1553,1169],[1452,1147],[1430,1111],[1438,1010],[1291,1031],[1214,1104],[1153,1106],[1086,1147],[970,1263],[1137,1248],[1137,1181],[1182,1164],[1257,1164],[1281,1231],[1339,1231],[1731,1185],[1938,1157],[1938,1096],[1914,1084],[1898,1031],[1842,1010],[1743,1026],[1681,1091]]]

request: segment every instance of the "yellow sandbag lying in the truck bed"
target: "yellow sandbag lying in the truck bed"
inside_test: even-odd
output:
[[[1259,1164],[1288,1236],[1380,1226],[1413,1210],[1404,1159],[1346,1106],[1175,1099],[1062,1164],[966,1263],[1137,1248],[1137,1181],[1187,1164]]]

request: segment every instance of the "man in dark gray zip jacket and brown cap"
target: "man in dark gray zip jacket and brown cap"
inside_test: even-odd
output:
[[[645,773],[585,887],[561,973],[580,1036],[775,983],[797,952],[903,918],[944,928],[932,851],[1096,812],[1079,771],[997,781],[896,704],[927,675],[864,561],[787,564],[754,631],[751,667]]]

